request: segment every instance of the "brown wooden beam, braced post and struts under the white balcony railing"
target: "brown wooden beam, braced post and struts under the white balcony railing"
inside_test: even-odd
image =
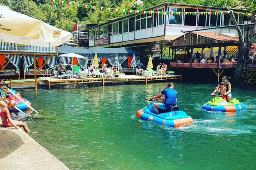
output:
[[[37,97],[37,74],[40,72],[40,70],[47,64],[47,62],[51,59],[53,55],[58,55],[58,46],[56,47],[56,53],[35,53],[35,52],[0,52],[0,54],[10,54],[13,55],[10,60],[4,65],[4,67],[1,69],[0,73],[4,70],[4,68],[11,62],[11,60],[16,56],[16,55],[33,55],[34,56],[34,75],[35,75],[35,97]],[[37,55],[49,55],[50,57],[45,61],[45,63],[42,65],[41,68],[38,68],[38,71],[36,70],[36,56]]]

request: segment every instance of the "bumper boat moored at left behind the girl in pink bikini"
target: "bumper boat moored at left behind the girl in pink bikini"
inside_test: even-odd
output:
[[[14,93],[17,94],[17,92],[16,92],[15,90],[13,90],[13,89],[9,89],[9,90],[11,90],[12,92],[14,92]],[[5,92],[4,92],[3,96],[4,96],[4,95],[5,95]],[[31,103],[30,103],[27,99],[24,99],[24,98],[22,98],[21,96],[19,96],[19,97],[20,97],[23,101],[25,101],[28,105],[31,106]],[[12,94],[9,93],[9,92],[7,93],[6,99],[7,99],[8,101],[14,100],[14,101],[16,102],[16,107],[19,108],[19,109],[22,110],[22,111],[29,109],[26,104],[24,104],[21,100],[19,100],[16,96],[12,95]],[[10,110],[10,112],[19,112],[19,111],[16,110],[15,108],[13,108],[12,110]]]

